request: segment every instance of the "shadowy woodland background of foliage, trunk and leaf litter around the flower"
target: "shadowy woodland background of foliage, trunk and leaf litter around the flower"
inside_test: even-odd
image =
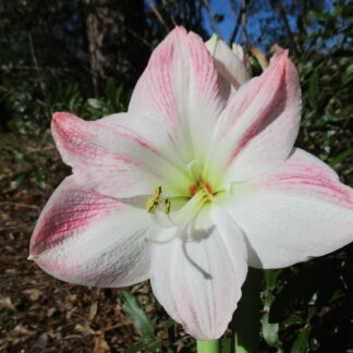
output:
[[[133,294],[74,287],[26,260],[34,222],[70,172],[50,137],[53,111],[97,119],[125,110],[175,24],[205,40],[216,32],[249,54],[279,45],[302,82],[297,145],[352,185],[352,19],[349,0],[0,0],[0,351],[194,350],[148,283]],[[352,252],[265,271],[261,352],[353,352]]]

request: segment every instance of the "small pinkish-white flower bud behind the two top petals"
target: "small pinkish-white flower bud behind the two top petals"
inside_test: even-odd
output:
[[[251,78],[249,71],[240,59],[240,56],[244,59],[244,52],[241,47],[236,47],[240,52],[240,56],[238,56],[223,40],[217,39],[216,35],[206,41],[206,47],[214,57],[219,73],[231,83],[234,93]]]

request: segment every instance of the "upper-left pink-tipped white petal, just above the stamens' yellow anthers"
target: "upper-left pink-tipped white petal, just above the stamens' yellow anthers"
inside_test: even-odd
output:
[[[190,184],[173,141],[150,119],[121,113],[84,121],[54,113],[51,131],[63,161],[101,194],[130,197],[150,194],[157,185],[185,193],[179,185]]]

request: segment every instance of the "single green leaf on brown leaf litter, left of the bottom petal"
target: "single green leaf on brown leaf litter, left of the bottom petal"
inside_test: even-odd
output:
[[[154,338],[156,324],[154,325],[148,320],[145,312],[142,309],[133,294],[122,291],[122,295],[126,301],[122,306],[124,313],[133,320],[142,336]]]

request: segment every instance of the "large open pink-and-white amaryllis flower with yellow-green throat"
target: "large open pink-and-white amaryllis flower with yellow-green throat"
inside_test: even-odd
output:
[[[69,282],[149,279],[199,340],[227,329],[247,266],[327,254],[351,242],[353,226],[352,190],[293,148],[301,94],[288,52],[248,80],[219,44],[208,44],[214,59],[200,37],[178,27],[154,51],[127,113],[53,115],[73,174],[31,242],[31,258]]]

